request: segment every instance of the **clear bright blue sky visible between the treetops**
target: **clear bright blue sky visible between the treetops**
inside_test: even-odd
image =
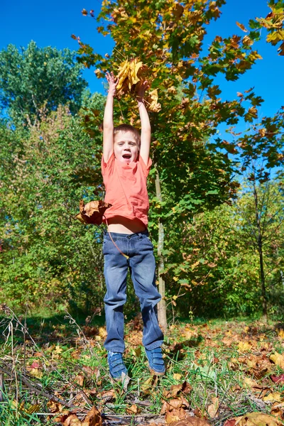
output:
[[[80,35],[81,40],[92,45],[101,54],[111,53],[114,46],[110,37],[97,33],[96,21],[82,16],[82,9],[94,9],[99,13],[99,0],[49,0],[23,1],[2,0],[0,8],[0,48],[12,43],[18,47],[26,46],[34,40],[38,46],[52,45],[58,49],[77,49],[77,42],[70,35]],[[222,17],[209,25],[204,47],[209,45],[215,35],[244,35],[236,26],[236,21],[246,24],[250,18],[265,17],[270,9],[266,0],[227,0],[222,6]],[[223,77],[217,78],[222,88],[222,99],[234,99],[236,92],[243,92],[250,87],[265,99],[261,107],[261,116],[272,115],[284,105],[283,70],[284,57],[278,56],[277,48],[264,41],[258,43],[258,52],[263,56],[252,70],[246,72],[237,82],[226,82]],[[84,71],[92,92],[104,93],[102,80],[97,80],[94,70]]]

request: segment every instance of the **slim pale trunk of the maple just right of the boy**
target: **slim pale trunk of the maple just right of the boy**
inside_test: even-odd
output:
[[[162,202],[162,193],[160,191],[160,177],[157,166],[156,170],[157,172],[155,175],[155,195],[158,200]],[[158,219],[158,225],[158,290],[162,297],[162,299],[158,303],[158,321],[160,324],[160,328],[163,330],[163,332],[165,332],[165,330],[168,328],[167,310],[165,305],[165,280],[163,280],[163,277],[160,275],[160,271],[162,271],[164,268],[163,247],[165,233],[163,222],[161,222],[160,218]]]

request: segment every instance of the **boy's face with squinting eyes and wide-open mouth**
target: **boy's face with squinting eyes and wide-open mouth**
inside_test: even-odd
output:
[[[139,148],[131,131],[119,131],[114,136],[114,157],[122,163],[131,163],[138,156]]]

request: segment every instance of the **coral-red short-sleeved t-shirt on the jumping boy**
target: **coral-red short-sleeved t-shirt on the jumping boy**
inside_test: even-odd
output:
[[[114,153],[107,163],[104,163],[102,157],[102,177],[106,188],[104,201],[112,204],[104,213],[107,219],[122,216],[140,219],[145,226],[148,225],[149,200],[146,181],[151,164],[150,158],[146,165],[140,155],[131,163],[117,161]]]

